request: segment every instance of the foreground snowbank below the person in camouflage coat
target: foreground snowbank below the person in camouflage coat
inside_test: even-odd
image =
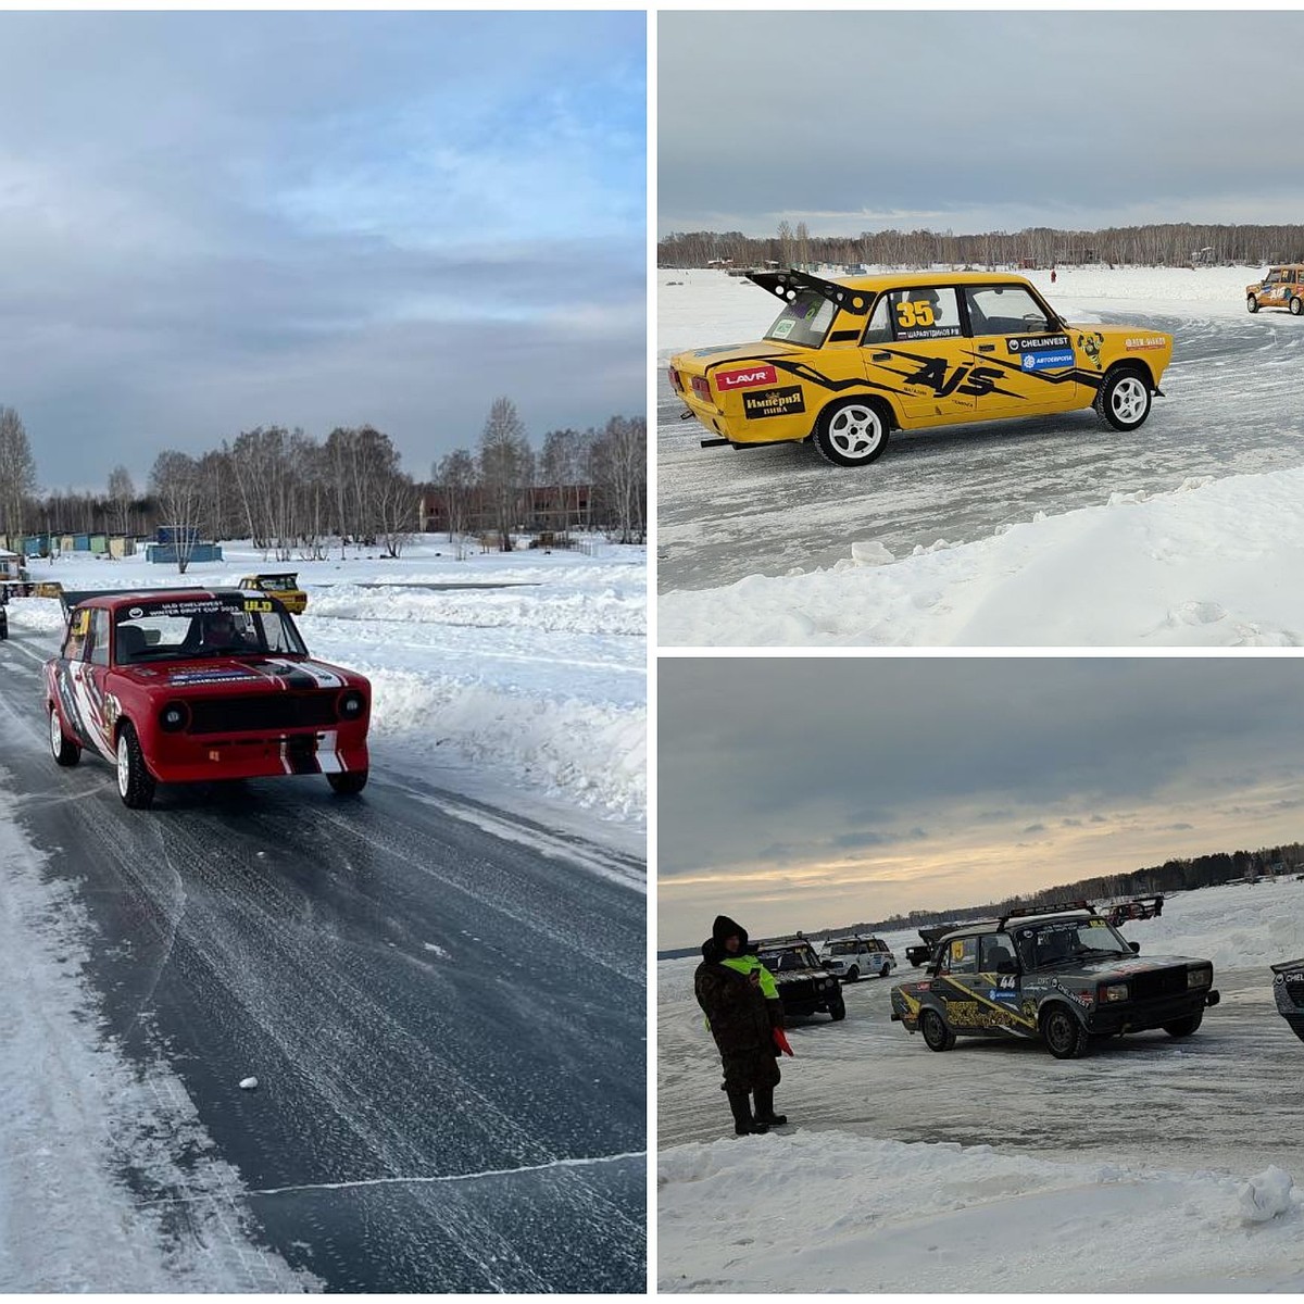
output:
[[[845,1132],[662,1151],[662,1291],[1299,1290],[1290,1178],[1051,1163]],[[1243,1189],[1274,1209],[1244,1222]],[[1284,1201],[1284,1202],[1283,1202]],[[1108,1245],[1108,1253],[1102,1247]]]

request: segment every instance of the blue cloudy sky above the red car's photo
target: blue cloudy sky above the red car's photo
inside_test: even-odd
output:
[[[0,404],[42,486],[645,406],[643,13],[3,13]]]

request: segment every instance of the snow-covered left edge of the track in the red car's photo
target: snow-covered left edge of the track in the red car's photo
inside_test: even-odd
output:
[[[4,820],[0,878],[0,1292],[312,1288],[254,1244],[175,1074],[102,1041],[76,891]]]

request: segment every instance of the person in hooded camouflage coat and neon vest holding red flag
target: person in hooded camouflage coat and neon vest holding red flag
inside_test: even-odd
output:
[[[747,949],[747,930],[728,915],[716,918],[702,944],[692,990],[724,1063],[734,1132],[746,1136],[786,1123],[786,1115],[775,1114],[780,1078],[775,1029],[784,1026],[784,1007],[769,970]]]

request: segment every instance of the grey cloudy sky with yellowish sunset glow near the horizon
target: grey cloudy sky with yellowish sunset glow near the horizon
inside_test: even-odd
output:
[[[1304,840],[1290,659],[659,662],[657,945]]]

